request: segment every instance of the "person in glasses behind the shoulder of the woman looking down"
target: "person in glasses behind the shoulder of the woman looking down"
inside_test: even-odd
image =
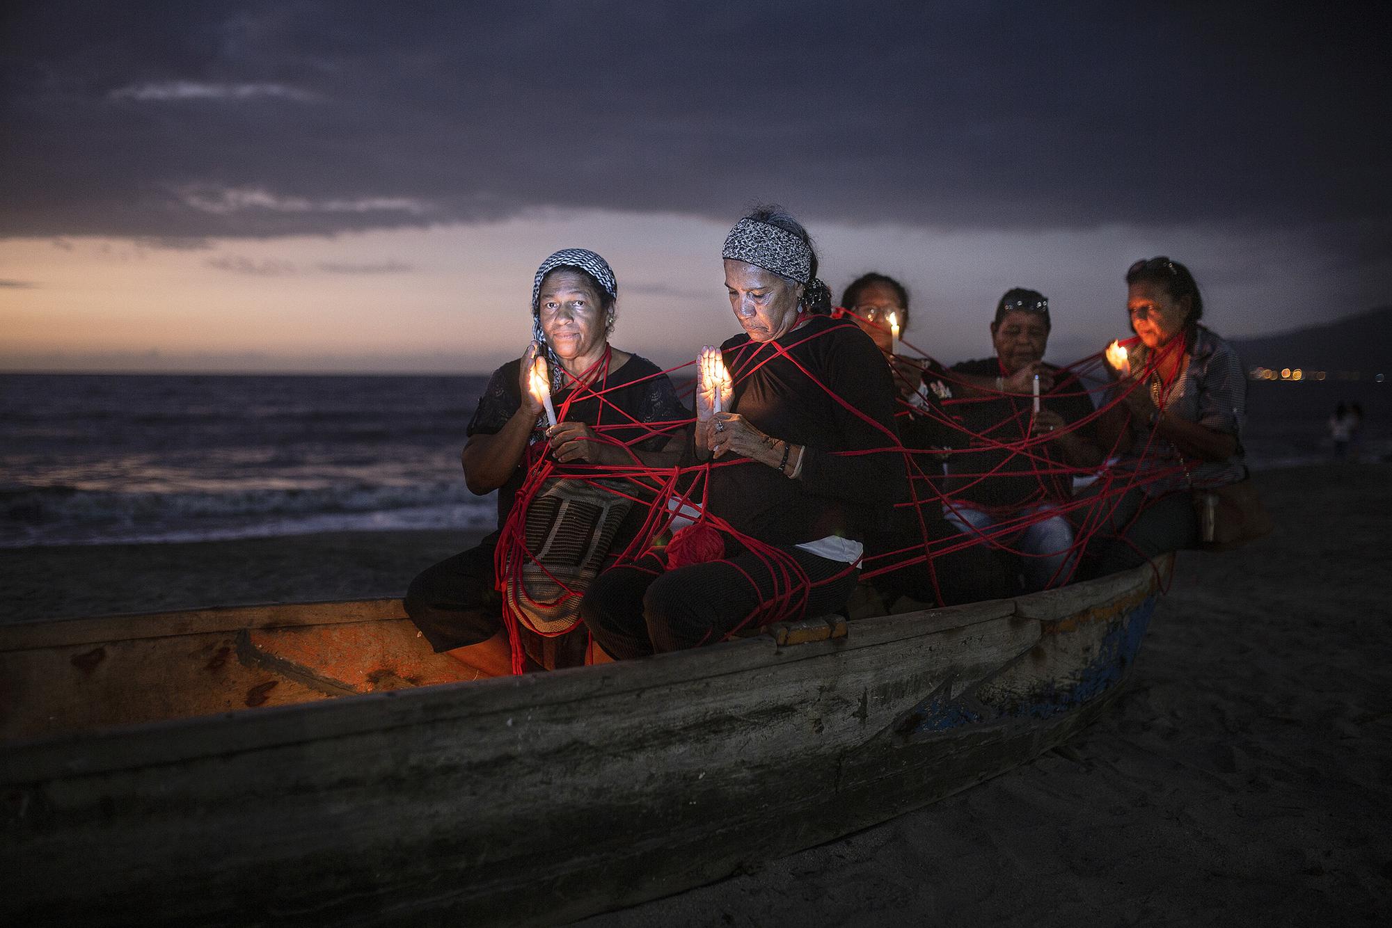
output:
[[[899,392],[898,424],[916,505],[895,506],[889,519],[866,537],[866,559],[891,568],[869,582],[885,605],[906,595],[928,605],[995,600],[1013,590],[1005,566],[984,545],[942,551],[959,529],[942,518],[941,449],[962,444],[962,431],[944,424],[941,399],[952,395],[951,376],[935,360],[895,351],[895,331],[909,327],[909,291],[898,280],[871,271],[852,281],[841,306],[884,353]],[[902,565],[902,566],[896,566]]]

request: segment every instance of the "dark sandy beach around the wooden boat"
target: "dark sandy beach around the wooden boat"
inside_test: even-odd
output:
[[[1186,552],[1132,687],[935,806],[593,928],[1364,924],[1392,911],[1392,466],[1257,474],[1278,531]],[[0,552],[0,615],[400,595],[462,533]]]

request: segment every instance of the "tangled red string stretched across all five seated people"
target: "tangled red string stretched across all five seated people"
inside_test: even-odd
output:
[[[853,316],[853,313],[848,310],[842,310],[841,314]],[[1023,551],[1012,543],[1029,526],[1043,522],[1044,519],[1054,518],[1055,515],[1072,516],[1070,522],[1075,525],[1075,533],[1073,543],[1068,550],[1068,554],[1070,555],[1082,554],[1083,548],[1100,536],[1105,536],[1108,540],[1121,538],[1125,543],[1125,531],[1130,527],[1130,523],[1134,522],[1136,516],[1133,516],[1132,520],[1126,526],[1122,526],[1118,531],[1112,531],[1109,529],[1112,522],[1111,516],[1121,505],[1122,497],[1136,487],[1141,487],[1153,481],[1172,480],[1173,477],[1185,476],[1192,466],[1192,462],[1186,462],[1182,456],[1179,456],[1178,451],[1161,440],[1153,429],[1146,433],[1144,442],[1139,448],[1133,447],[1130,449],[1130,458],[1134,459],[1134,466],[1129,467],[1111,466],[1121,456],[1119,447],[1116,444],[1104,449],[1107,463],[1096,469],[1073,467],[1061,462],[1055,455],[1050,454],[1048,449],[1051,440],[1058,434],[1089,429],[1094,423],[1101,422],[1104,417],[1115,416],[1119,409],[1125,408],[1126,397],[1132,390],[1136,390],[1141,384],[1147,384],[1154,378],[1158,378],[1160,381],[1157,405],[1164,408],[1165,398],[1173,388],[1182,366],[1171,365],[1168,376],[1160,376],[1158,371],[1165,366],[1164,362],[1166,358],[1171,358],[1169,352],[1178,351],[1180,352],[1180,356],[1183,355],[1185,345],[1182,344],[1182,339],[1173,339],[1164,349],[1151,352],[1144,370],[1139,371],[1130,383],[1125,384],[1122,390],[1112,390],[1107,402],[1098,405],[1090,415],[1075,422],[1065,423],[1059,431],[1052,435],[1030,434],[1030,416],[1023,412],[1022,408],[1015,408],[1006,420],[997,423],[995,427],[987,430],[990,434],[977,434],[970,431],[959,417],[952,415],[954,408],[965,408],[969,403],[992,402],[1005,395],[1015,394],[983,391],[980,387],[976,387],[976,395],[954,397],[944,399],[941,403],[924,406],[913,405],[902,398],[903,392],[912,395],[919,388],[919,384],[901,383],[901,385],[908,385],[910,390],[901,391],[901,399],[896,410],[899,424],[902,426],[913,417],[923,417],[948,433],[959,434],[962,438],[960,444],[963,445],[960,448],[908,448],[901,442],[894,430],[885,429],[880,422],[838,397],[812,370],[789,353],[792,348],[807,339],[818,338],[827,331],[830,330],[823,328],[820,331],[810,333],[802,339],[789,341],[788,345],[763,342],[764,346],[771,346],[773,351],[768,351],[767,356],[761,358],[757,363],[739,369],[738,378],[746,378],[763,367],[763,365],[781,358],[792,363],[803,376],[816,384],[817,388],[831,397],[832,401],[884,435],[885,444],[880,448],[863,448],[832,454],[869,455],[891,452],[903,458],[905,469],[909,476],[909,499],[899,505],[910,508],[910,512],[916,516],[919,525],[919,540],[895,551],[884,551],[876,555],[864,557],[860,563],[862,579],[871,579],[908,566],[924,563],[928,568],[934,594],[938,601],[941,601],[941,589],[938,586],[938,576],[934,568],[934,561],[937,558],[983,543],[1019,558],[1043,558],[1063,554]],[[1125,346],[1132,346],[1136,342],[1137,339],[1132,338],[1123,341],[1122,344]],[[926,362],[931,362],[931,358],[928,358],[926,352],[919,351],[908,341],[902,341],[901,344],[903,348],[920,355]],[[683,518],[683,512],[699,512],[699,516],[690,525],[679,527],[679,530],[671,534],[671,538],[667,541],[665,562],[668,569],[721,559],[727,550],[727,538],[732,540],[745,551],[752,554],[767,570],[768,576],[774,579],[774,591],[754,609],[752,609],[749,615],[743,616],[729,634],[743,630],[756,619],[760,625],[768,625],[773,622],[800,618],[803,608],[806,607],[809,593],[814,586],[834,583],[855,569],[853,565],[846,565],[845,570],[838,572],[835,576],[813,582],[798,565],[798,562],[781,548],[743,534],[735,530],[724,519],[711,515],[704,505],[711,469],[748,463],[745,459],[710,461],[695,467],[685,469],[650,467],[644,465],[638,452],[633,449],[633,445],[654,435],[679,435],[693,423],[693,419],[640,422],[629,412],[611,402],[608,399],[608,394],[618,390],[618,387],[610,387],[607,383],[610,358],[610,352],[606,352],[600,362],[596,362],[590,370],[578,377],[567,371],[571,392],[557,410],[557,419],[564,422],[572,405],[582,399],[597,399],[600,413],[596,416],[596,422],[592,423],[592,430],[594,433],[593,441],[621,449],[629,463],[571,463],[567,465],[565,473],[558,473],[555,461],[547,454],[546,442],[535,441],[526,455],[526,479],[522,488],[518,491],[516,502],[508,519],[501,526],[494,566],[497,568],[496,577],[498,590],[511,591],[509,595],[504,595],[503,619],[505,627],[508,629],[508,639],[512,646],[512,669],[515,673],[522,672],[525,661],[525,651],[519,640],[521,627],[526,626],[533,632],[537,632],[528,622],[526,615],[521,608],[522,598],[526,598],[526,602],[533,607],[540,605],[543,608],[553,608],[567,600],[580,597],[583,594],[582,590],[571,590],[562,584],[564,593],[558,600],[554,602],[537,604],[528,597],[525,586],[521,582],[523,563],[537,563],[536,552],[529,551],[526,545],[528,508],[536,498],[537,493],[553,479],[585,480],[592,486],[599,486],[596,481],[604,480],[606,491],[628,498],[635,505],[646,509],[643,523],[638,533],[628,540],[622,551],[611,552],[611,563],[633,565],[639,557],[649,550],[653,550],[654,545],[660,547],[661,538],[672,531],[674,520]],[[688,362],[638,381],[626,381],[622,387],[626,388],[632,387],[635,383],[675,374],[686,367],[695,366],[695,363],[696,362]],[[1097,352],[1076,360],[1066,367],[1061,367],[1058,370],[1057,383],[1072,383],[1076,384],[1077,388],[1069,392],[1059,391],[1055,387],[1055,390],[1047,395],[1050,398],[1090,397],[1091,391],[1089,391],[1083,384],[1089,378],[1096,383],[1105,377],[1105,374],[1100,376],[1100,371],[1102,371],[1102,352]],[[967,381],[960,376],[954,374],[941,365],[937,367],[938,370],[934,373],[934,378],[941,377],[941,380],[944,380],[949,387],[956,388],[955,392],[967,385]],[[1001,373],[1004,374],[1005,371],[1002,370]],[[898,370],[895,371],[895,376],[901,376]],[[682,391],[682,397],[690,401],[693,391],[695,384],[690,384]],[[695,403],[689,402],[689,405],[693,406]],[[1123,423],[1123,427],[1118,429],[1118,434],[1125,435],[1129,430],[1129,422]],[[1001,426],[1009,426],[1009,429],[1002,429]],[[632,430],[635,427],[640,429],[642,434],[626,442],[618,441],[611,435],[615,430]],[[992,434],[999,435],[1002,433],[1018,434],[1019,438],[991,437]],[[928,512],[941,512],[944,509],[951,511],[959,505],[958,497],[962,493],[962,490],[952,494],[944,493],[942,462],[951,459],[954,455],[980,454],[981,451],[999,452],[997,456],[1001,465],[1004,465],[1004,462],[1012,455],[1023,456],[1030,463],[1030,467],[1027,470],[1011,470],[1009,476],[1034,477],[1037,488],[1031,495],[1031,501],[1047,501],[1051,504],[1051,508],[1040,512],[1031,506],[1031,502],[1011,505],[1008,511],[992,513],[998,516],[998,520],[990,529],[972,529],[955,536],[931,540],[924,520],[924,509],[931,506],[931,509],[927,509]],[[980,481],[998,476],[998,467],[1001,465],[981,473],[967,473],[960,467],[954,466],[952,477],[955,483],[963,484],[963,488],[969,488]],[[1080,499],[1069,494],[1059,494],[1054,490],[1059,481],[1066,484],[1075,477],[1087,477],[1096,481],[1096,490],[1089,498]],[[679,486],[685,486],[686,488],[678,490]],[[1137,516],[1139,515],[1140,513],[1137,512]],[[1076,570],[1077,562],[1077,557],[1066,558],[1063,561],[1066,572],[1061,569],[1059,575],[1055,575],[1051,579],[1050,586],[1059,586],[1072,580],[1072,573]],[[752,587],[756,590],[759,589],[754,577],[741,569],[739,565],[731,561],[727,561],[725,563],[735,568]],[[555,579],[548,570],[546,570],[544,565],[540,566],[547,576]],[[537,633],[547,634],[544,632]],[[564,633],[565,632],[550,634]]]

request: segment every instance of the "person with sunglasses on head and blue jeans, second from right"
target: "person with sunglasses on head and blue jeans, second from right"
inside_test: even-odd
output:
[[[1044,360],[1051,328],[1044,294],[1016,287],[995,305],[995,356],[952,367],[974,394],[954,406],[973,449],[948,456],[942,513],[966,537],[1018,555],[1026,593],[1072,579],[1069,470],[1104,458],[1087,388]]]

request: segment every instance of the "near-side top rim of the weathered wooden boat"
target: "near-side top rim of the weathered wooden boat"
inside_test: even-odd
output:
[[[1165,562],[1045,590],[1029,595],[973,602],[960,607],[922,609],[898,615],[856,619],[849,636],[806,644],[778,646],[761,634],[724,641],[703,648],[658,654],[640,661],[578,666],[550,673],[493,678],[475,682],[441,683],[418,689],[365,693],[315,703],[262,707],[192,715],[175,719],[135,722],[63,735],[15,739],[4,743],[7,762],[0,769],[0,786],[18,787],[64,776],[117,774],[157,765],[178,764],[200,757],[231,755],[296,743],[348,737],[373,730],[418,723],[443,723],[455,718],[525,711],[550,703],[578,701],[596,696],[617,696],[695,679],[718,679],[789,661],[813,659],[844,650],[883,647],[906,639],[922,639],[970,629],[972,626],[1018,618],[1019,621],[1062,621],[1080,611],[1097,609],[1151,595]],[[1020,602],[1025,601],[1025,608]],[[369,600],[352,602],[393,602]],[[312,604],[316,607],[333,604]],[[252,607],[266,614],[276,607]],[[295,608],[295,607],[285,607]],[[214,612],[227,618],[242,608]],[[150,614],[184,615],[184,614]],[[143,619],[110,616],[114,619]],[[96,622],[100,619],[86,619]],[[348,622],[383,619],[348,619]],[[315,622],[326,625],[330,622]],[[274,623],[255,627],[294,627]],[[209,629],[232,632],[244,626]],[[195,632],[205,633],[205,632]],[[164,636],[157,636],[164,637]],[[113,640],[107,636],[104,640]],[[54,646],[61,647],[61,646]],[[28,648],[25,648],[28,650]],[[75,750],[78,749],[78,750]],[[75,755],[79,754],[79,755]]]

